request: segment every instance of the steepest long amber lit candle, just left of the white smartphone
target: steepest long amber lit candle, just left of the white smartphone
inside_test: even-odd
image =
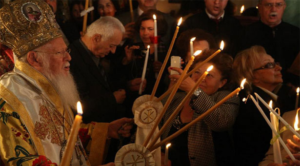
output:
[[[152,93],[151,93],[151,96],[150,96],[150,101],[152,101],[152,99],[153,99],[153,97],[154,97],[154,95],[155,95],[155,93],[156,93],[157,87],[158,87],[158,85],[159,85],[159,83],[160,83],[160,78],[161,78],[161,76],[162,76],[163,70],[164,70],[164,68],[166,67],[166,64],[167,64],[167,62],[168,62],[168,59],[169,59],[169,57],[170,57],[170,54],[171,54],[171,51],[172,51],[172,48],[173,48],[175,39],[176,39],[176,37],[177,37],[178,31],[179,31],[179,26],[180,26],[181,22],[182,22],[182,17],[181,17],[181,18],[179,19],[179,21],[178,21],[178,24],[177,24],[177,26],[176,26],[175,33],[174,33],[174,35],[173,35],[172,42],[171,42],[171,44],[170,44],[170,46],[169,46],[169,50],[168,50],[167,55],[166,55],[166,57],[165,57],[165,59],[164,59],[164,62],[163,62],[162,65],[161,65],[159,75],[158,75],[158,77],[157,77],[157,79],[156,79],[155,85],[154,85],[154,87],[153,87],[153,90],[152,90]]]

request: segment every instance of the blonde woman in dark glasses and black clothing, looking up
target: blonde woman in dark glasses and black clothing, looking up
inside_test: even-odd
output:
[[[269,103],[273,101],[273,108],[279,107],[280,114],[294,109],[295,90],[282,84],[280,64],[268,55],[261,46],[252,46],[238,53],[234,63],[234,77],[236,83],[243,78],[248,84],[240,92],[240,99],[247,98],[254,93]],[[264,113],[270,118],[270,111],[259,102]],[[257,166],[269,149],[272,131],[259,110],[250,99],[241,101],[239,115],[234,125],[234,143],[237,163],[241,166]]]

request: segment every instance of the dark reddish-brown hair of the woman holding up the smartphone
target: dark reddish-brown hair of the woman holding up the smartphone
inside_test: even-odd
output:
[[[214,49],[204,50],[200,55],[196,56],[189,70],[195,68],[197,66],[197,63],[203,62],[215,52],[216,50]],[[216,67],[220,71],[221,80],[227,79],[227,82],[222,87],[222,89],[229,89],[229,83],[231,82],[231,76],[233,72],[233,58],[228,54],[219,53],[208,62],[213,63],[214,67]]]

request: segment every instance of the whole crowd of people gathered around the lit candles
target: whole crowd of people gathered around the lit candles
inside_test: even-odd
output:
[[[215,53],[221,41],[225,47],[180,83],[159,127],[207,67],[214,66],[160,139],[198,118],[239,87],[242,79],[247,82],[238,95],[170,141],[167,166],[300,166],[300,138],[288,130],[280,133],[297,160],[281,147],[284,163],[275,163],[272,130],[253,101],[243,100],[254,93],[266,102],[272,100],[280,116],[294,124],[299,108],[295,103],[300,29],[282,20],[285,0],[258,0],[260,18],[249,25],[232,15],[230,0],[203,0],[202,7],[195,3],[199,9],[188,13],[170,50],[171,56],[181,58],[181,68],[170,66],[168,60],[163,70],[177,18],[157,10],[158,0],[134,1],[137,7],[132,12],[121,10],[120,0],[93,0],[95,10],[88,13],[86,31],[80,16],[85,1],[63,3],[69,8],[67,21],[55,15],[60,10],[57,0],[13,0],[0,8],[0,166],[59,165],[77,101],[82,104],[83,123],[70,165],[114,166],[120,147],[135,142],[135,100],[151,95],[160,72],[156,97],[179,81],[192,56],[193,37],[194,52],[202,52],[189,71]],[[170,74],[171,70],[178,74]],[[161,100],[163,105],[168,97]],[[269,109],[260,106],[270,119]],[[161,146],[162,157],[164,150]]]

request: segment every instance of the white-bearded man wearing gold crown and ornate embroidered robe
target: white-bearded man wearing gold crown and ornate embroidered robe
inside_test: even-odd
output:
[[[20,6],[29,3],[40,9],[40,21],[23,18]],[[71,109],[80,100],[69,72],[70,49],[43,1],[3,6],[0,25],[0,42],[13,50],[15,59],[14,70],[0,78],[0,165],[59,165],[73,124]],[[132,126],[120,128],[130,122],[82,124],[70,164],[101,165],[109,138],[128,137]]]

